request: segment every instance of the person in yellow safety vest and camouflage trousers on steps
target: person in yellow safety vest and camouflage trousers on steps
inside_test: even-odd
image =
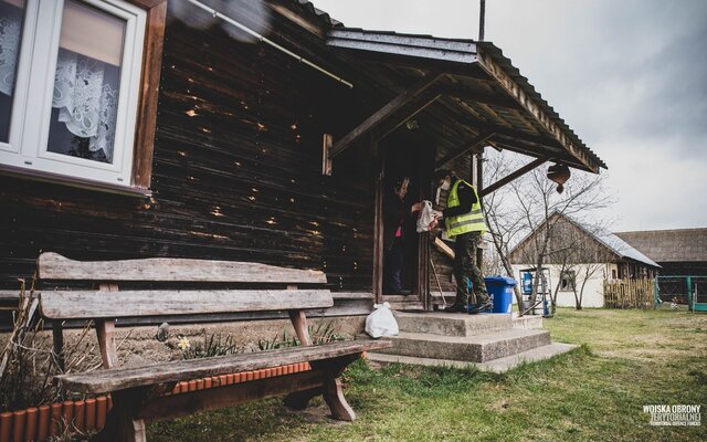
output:
[[[447,235],[455,239],[456,298],[454,304],[444,311],[466,312],[467,304],[473,301],[474,306],[468,306],[468,313],[488,312],[493,305],[486,292],[484,275],[476,263],[476,248],[487,230],[476,189],[449,169],[437,170],[434,173],[434,180],[437,188],[450,191],[446,209],[436,221],[444,220]],[[473,287],[473,294],[469,293],[469,285]],[[469,299],[471,295],[473,295],[472,299]]]

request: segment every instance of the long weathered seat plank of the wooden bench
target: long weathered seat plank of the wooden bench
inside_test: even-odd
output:
[[[209,376],[258,370],[296,362],[333,359],[391,347],[389,340],[352,340],[256,351],[232,356],[177,360],[135,368],[117,368],[57,376],[63,388],[85,393],[105,393],[135,387],[199,379]]]

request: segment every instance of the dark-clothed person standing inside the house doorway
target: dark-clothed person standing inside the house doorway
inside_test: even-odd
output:
[[[386,295],[410,295],[402,286],[405,263],[405,241],[410,235],[411,208],[405,196],[410,178],[402,177],[394,182],[392,192],[383,200],[383,245],[386,263],[383,267],[383,293]]]

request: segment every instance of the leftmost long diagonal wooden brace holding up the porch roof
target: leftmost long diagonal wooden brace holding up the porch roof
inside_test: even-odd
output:
[[[363,123],[358,125],[358,127],[348,133],[344,138],[336,141],[331,147],[330,158],[336,158],[363,135],[369,134],[371,130],[380,126],[395,112],[402,109],[403,107],[410,105],[415,101],[419,101],[421,96],[426,97],[426,94],[423,93],[432,87],[442,76],[444,76],[444,74],[436,72],[429,73],[410,88],[403,91],[400,95],[388,102],[383,107],[378,109],[370,117],[366,118]]]

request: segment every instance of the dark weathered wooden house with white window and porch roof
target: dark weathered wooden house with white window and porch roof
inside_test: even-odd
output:
[[[395,176],[430,199],[435,168],[476,180],[485,146],[529,157],[496,187],[548,161],[605,168],[489,42],[349,29],[305,0],[0,0],[0,14],[4,290],[41,251],[218,259],[324,270],[329,314],[360,315],[383,299]],[[430,259],[445,281],[449,262],[426,234],[408,254],[426,307]]]

